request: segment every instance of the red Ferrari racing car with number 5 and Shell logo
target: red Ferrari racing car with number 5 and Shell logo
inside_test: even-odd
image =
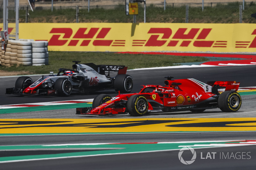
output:
[[[106,94],[96,96],[92,107],[76,108],[78,115],[114,115],[129,113],[142,116],[149,112],[173,112],[189,110],[200,113],[205,109],[220,108],[223,112],[236,112],[242,100],[236,92],[236,81],[212,81],[207,84],[196,79],[167,77],[165,86],[146,85],[139,93],[119,94],[110,97]],[[218,89],[225,88],[220,93]]]

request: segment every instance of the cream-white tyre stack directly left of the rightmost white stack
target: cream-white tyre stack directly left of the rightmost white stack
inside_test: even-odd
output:
[[[17,41],[17,65],[32,65],[31,41]]]

